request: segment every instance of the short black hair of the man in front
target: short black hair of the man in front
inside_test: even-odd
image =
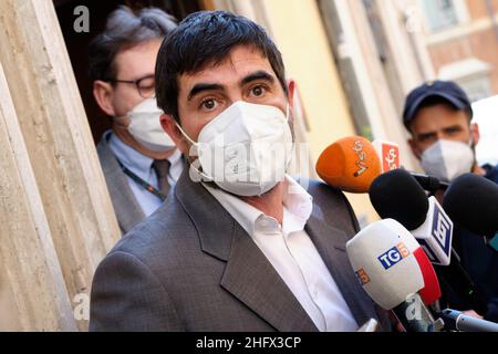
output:
[[[179,121],[179,75],[221,63],[240,44],[252,45],[269,60],[288,94],[282,54],[260,25],[230,12],[200,11],[181,21],[160,46],[156,62],[157,105]]]

